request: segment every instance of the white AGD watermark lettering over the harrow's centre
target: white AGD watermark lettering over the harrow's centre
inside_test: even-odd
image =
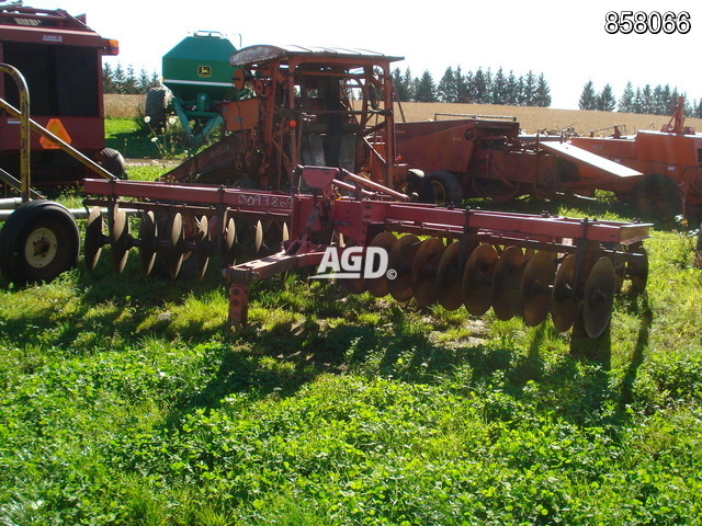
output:
[[[387,250],[382,247],[349,247],[339,250],[327,247],[317,267],[317,274],[310,279],[375,279],[387,276],[395,279],[397,272],[388,270]]]

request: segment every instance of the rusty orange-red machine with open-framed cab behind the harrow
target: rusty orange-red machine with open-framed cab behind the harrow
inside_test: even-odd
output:
[[[333,167],[401,187],[390,64],[371,52],[257,45],[229,64],[249,96],[223,103],[226,136],[163,180],[296,187],[302,164]]]

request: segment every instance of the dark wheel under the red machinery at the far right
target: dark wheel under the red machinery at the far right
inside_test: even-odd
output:
[[[646,175],[634,185],[632,201],[643,219],[670,222],[682,214],[680,190],[665,175]]]

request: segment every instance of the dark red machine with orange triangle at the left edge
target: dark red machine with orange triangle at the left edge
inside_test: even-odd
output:
[[[117,41],[86,25],[86,16],[64,10],[0,5],[0,64],[22,72],[31,93],[31,115],[41,126],[103,165],[124,175],[122,156],[105,148],[102,57],[117,55]],[[19,106],[15,83],[0,76],[0,99]],[[20,168],[19,119],[0,115],[0,169]],[[55,185],[80,181],[84,167],[53,141],[33,134],[32,182]]]

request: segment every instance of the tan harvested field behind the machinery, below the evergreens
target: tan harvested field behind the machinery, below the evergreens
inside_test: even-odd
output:
[[[105,116],[131,118],[144,111],[144,95],[105,95]],[[505,106],[494,104],[442,104],[411,102],[401,104],[398,121],[404,114],[406,121],[427,121],[437,114],[513,116],[524,133],[539,130],[557,133],[575,128],[578,135],[602,130],[596,135],[609,135],[612,126],[618,125],[623,133],[634,134],[638,129],[660,129],[668,124],[669,116],[639,115],[633,113],[596,112],[578,110],[554,110],[550,107]],[[451,118],[439,116],[438,118]],[[702,132],[702,118],[686,119],[688,126]]]

